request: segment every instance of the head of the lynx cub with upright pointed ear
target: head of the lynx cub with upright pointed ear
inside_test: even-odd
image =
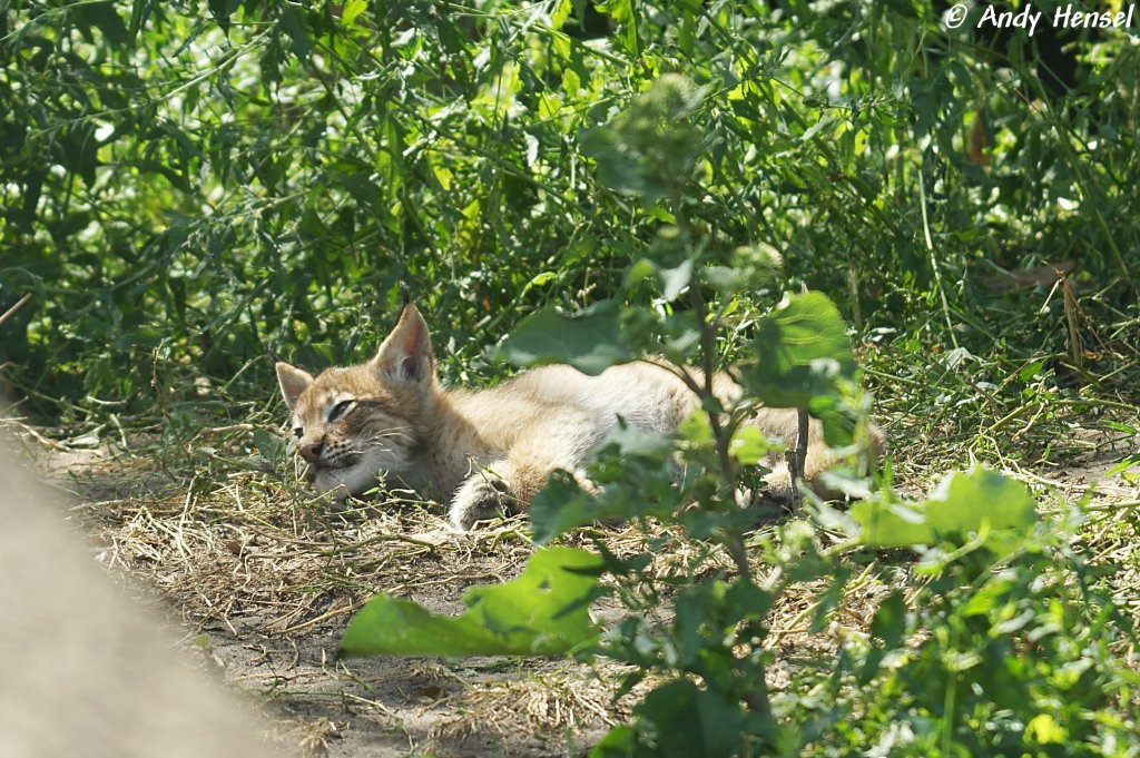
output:
[[[317,491],[337,500],[360,495],[414,463],[435,391],[427,325],[409,303],[368,362],[317,377],[278,362],[277,381]]]

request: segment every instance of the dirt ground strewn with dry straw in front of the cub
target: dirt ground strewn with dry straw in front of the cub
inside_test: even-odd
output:
[[[1096,507],[1134,507],[1137,484],[1105,478],[1134,450],[1082,434],[1081,457],[1008,473],[1051,492],[1043,502],[1088,495]],[[348,619],[376,590],[458,613],[467,587],[518,576],[532,551],[523,520],[458,535],[432,504],[333,514],[251,466],[172,466],[17,437],[30,465],[75,502],[71,517],[96,559],[184,629],[197,666],[262,703],[274,743],[314,756],[578,756],[629,715],[633,700],[614,699],[621,671],[606,662],[335,660]],[[618,529],[610,541],[643,538]],[[830,649],[840,627],[865,629],[885,592],[856,582],[822,638],[803,622],[809,602],[785,597],[773,619],[773,688],[787,686],[797,655]]]

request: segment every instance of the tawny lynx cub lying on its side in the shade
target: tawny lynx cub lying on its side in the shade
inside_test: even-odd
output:
[[[394,479],[449,502],[458,529],[495,515],[503,503],[528,505],[556,468],[589,487],[584,464],[619,416],[668,434],[698,406],[677,376],[651,362],[598,376],[546,366],[489,390],[445,389],[435,380],[427,325],[412,304],[368,362],[316,378],[278,362],[277,378],[318,491],[343,500]],[[740,388],[717,374],[714,391],[731,400]],[[752,423],[795,445],[795,410],[762,408]],[[829,463],[821,425],[812,419],[807,478]],[[769,487],[787,491],[787,466],[773,467]]]

